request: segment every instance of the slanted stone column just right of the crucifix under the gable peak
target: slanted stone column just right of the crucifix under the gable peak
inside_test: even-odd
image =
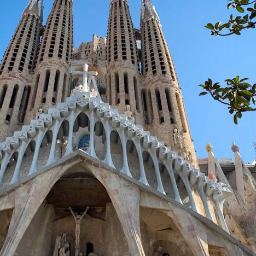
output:
[[[101,167],[97,169],[94,175],[108,192],[123,226],[131,255],[146,255],[143,250],[139,228],[139,189],[135,185],[124,181],[117,174],[106,171]]]

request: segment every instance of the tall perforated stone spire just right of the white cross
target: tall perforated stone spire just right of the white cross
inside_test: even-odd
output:
[[[107,36],[107,99],[120,113],[131,106],[138,123],[142,109],[138,49],[129,4],[111,0]]]

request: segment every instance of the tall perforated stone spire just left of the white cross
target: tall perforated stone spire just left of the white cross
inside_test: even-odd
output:
[[[72,50],[73,1],[55,0],[38,51],[30,112],[25,120],[34,118],[39,109],[46,112],[68,96]]]

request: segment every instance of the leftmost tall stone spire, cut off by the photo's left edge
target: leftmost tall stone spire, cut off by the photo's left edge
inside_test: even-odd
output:
[[[42,0],[31,0],[4,53],[0,66],[0,140],[24,121],[42,21]]]

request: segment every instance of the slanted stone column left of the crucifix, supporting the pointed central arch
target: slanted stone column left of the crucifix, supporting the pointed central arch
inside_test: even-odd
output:
[[[0,252],[1,256],[14,255],[21,238],[24,236],[33,217],[42,205],[54,184],[68,168],[78,164],[74,161],[66,167],[56,167],[37,176],[33,181],[24,184],[15,191],[15,207],[11,218],[7,238]]]

